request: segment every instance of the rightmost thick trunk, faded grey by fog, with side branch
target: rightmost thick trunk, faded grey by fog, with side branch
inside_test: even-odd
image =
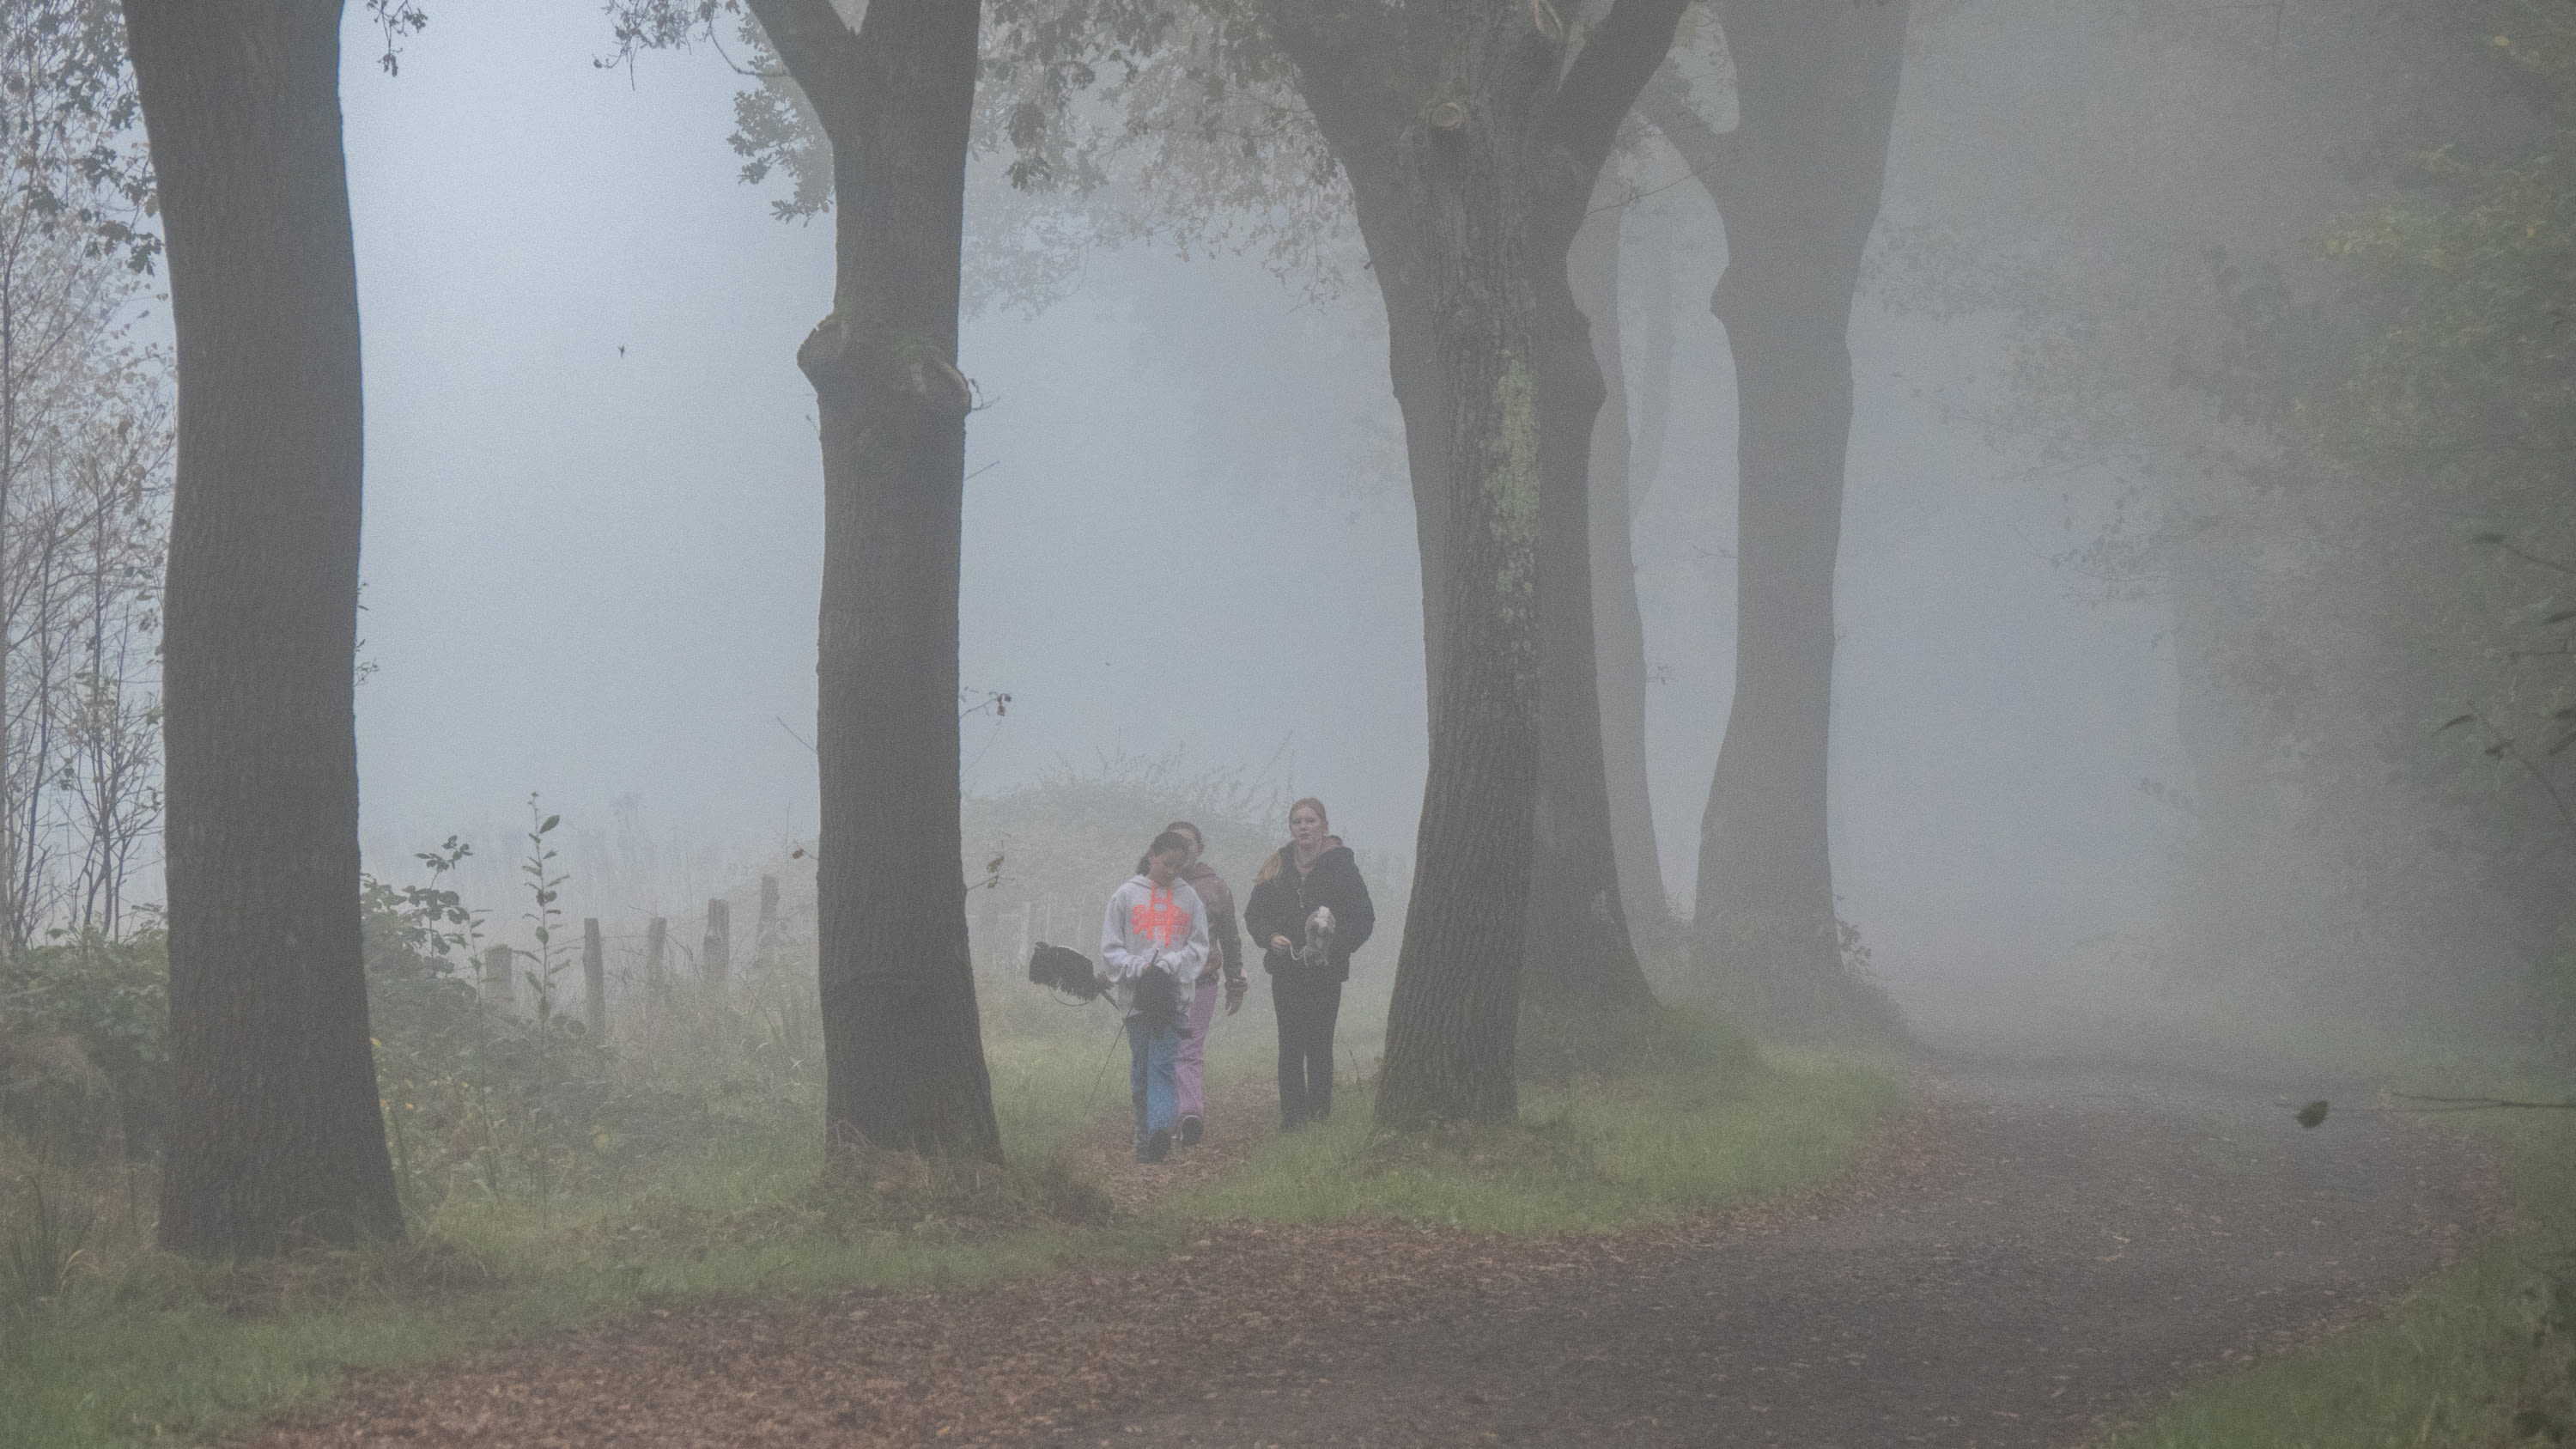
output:
[[[1646,113],[1726,222],[1736,356],[1736,694],[1700,817],[1698,957],[1783,1021],[1842,1006],[1826,851],[1844,340],[1878,222],[1906,0],[1723,0],[1731,131],[1662,72]]]

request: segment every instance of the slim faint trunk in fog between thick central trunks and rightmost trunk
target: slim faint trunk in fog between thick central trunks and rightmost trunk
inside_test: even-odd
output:
[[[1592,320],[1592,356],[1602,371],[1602,410],[1592,425],[1592,639],[1600,681],[1602,776],[1610,789],[1610,846],[1631,931],[1662,931],[1664,856],[1654,841],[1646,789],[1646,616],[1636,601],[1636,516],[1628,451],[1628,369],[1620,358],[1620,211],[1602,206],[1584,219],[1566,255],[1574,304]],[[1662,289],[1654,291],[1662,297]],[[1672,320],[1662,340],[1672,343]],[[1669,364],[1669,353],[1667,353]]]

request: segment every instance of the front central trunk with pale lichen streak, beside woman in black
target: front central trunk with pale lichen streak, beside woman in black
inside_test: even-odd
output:
[[[1396,142],[1430,294],[1437,415],[1440,660],[1430,779],[1386,1016],[1378,1122],[1510,1119],[1538,776],[1535,317],[1520,281],[1528,113],[1556,46],[1458,18],[1443,36],[1486,77]],[[1430,549],[1427,549],[1430,552]]]

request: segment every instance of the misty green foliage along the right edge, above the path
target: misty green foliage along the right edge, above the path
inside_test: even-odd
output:
[[[2411,1029],[2566,1055],[2576,10],[2470,0],[2445,21],[2522,116],[2360,152],[2378,199],[2303,263],[2331,297],[2213,255],[2233,333],[2177,379],[2269,451],[2228,518],[2177,529],[2192,536],[2169,567],[2226,580],[2197,663],[2259,779],[2184,804],[2228,835],[2210,843],[2210,890],[2244,897],[2239,915],[2321,905],[2275,931],[2210,931],[2210,959]],[[2249,804],[2282,825],[2246,833]]]

